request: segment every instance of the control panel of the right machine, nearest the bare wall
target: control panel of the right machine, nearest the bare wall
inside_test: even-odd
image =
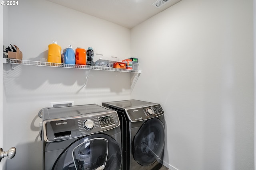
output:
[[[143,121],[164,114],[164,110],[158,105],[127,109],[126,114],[130,121]]]

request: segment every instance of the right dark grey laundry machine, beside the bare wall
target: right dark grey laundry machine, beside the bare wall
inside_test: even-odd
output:
[[[158,170],[164,156],[164,111],[140,100],[104,102],[118,112],[122,131],[123,170]]]

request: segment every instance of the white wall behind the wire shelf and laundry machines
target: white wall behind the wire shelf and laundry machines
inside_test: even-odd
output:
[[[47,57],[52,41],[62,49],[72,45],[93,47],[95,53],[125,59],[130,57],[130,29],[45,0],[19,1],[18,6],[4,6],[4,44],[17,45],[24,60]],[[50,102],[73,100],[79,104],[101,104],[130,99],[130,74],[4,64],[4,146],[16,147],[16,156],[6,168],[41,169],[42,143],[38,111]],[[88,76],[88,79],[86,77]],[[87,83],[86,83],[86,80]],[[85,84],[86,83],[86,84]],[[84,87],[86,85],[86,87]]]

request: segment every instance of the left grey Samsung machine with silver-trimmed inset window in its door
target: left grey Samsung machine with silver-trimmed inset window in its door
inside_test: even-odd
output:
[[[97,104],[42,109],[43,170],[121,170],[120,121]]]

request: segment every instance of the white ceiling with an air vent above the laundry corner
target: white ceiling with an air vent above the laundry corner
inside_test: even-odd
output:
[[[48,0],[132,28],[181,0]],[[153,5],[154,4],[154,5]]]

